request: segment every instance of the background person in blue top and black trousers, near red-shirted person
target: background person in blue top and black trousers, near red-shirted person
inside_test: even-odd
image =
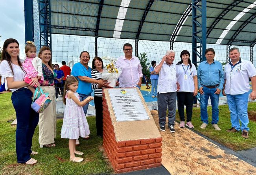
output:
[[[63,96],[63,78],[64,78],[64,72],[59,69],[59,65],[54,65],[54,72],[56,74],[56,77],[54,78],[54,84],[55,84],[55,97],[56,100],[58,100],[58,92],[61,92],[61,96]]]

